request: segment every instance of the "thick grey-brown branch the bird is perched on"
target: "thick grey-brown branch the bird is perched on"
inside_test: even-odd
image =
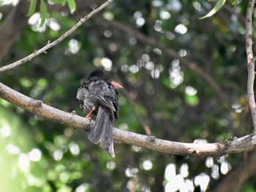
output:
[[[23,108],[29,112],[48,118],[57,123],[66,126],[81,128],[90,131],[94,126],[93,120],[82,118],[73,113],[64,112],[54,107],[44,104],[43,101],[31,99],[28,96],[14,91],[0,82],[0,97]],[[171,142],[164,139],[157,139],[154,136],[146,136],[135,134],[130,131],[123,131],[114,128],[114,139],[118,142],[127,143],[145,147],[149,150],[156,150],[162,153],[170,153],[174,155],[197,155],[197,156],[214,156],[219,158],[222,155],[230,153],[239,153],[243,151],[255,150],[256,144],[252,142],[252,136],[247,135],[241,138],[235,138],[232,141],[224,143],[182,143]]]

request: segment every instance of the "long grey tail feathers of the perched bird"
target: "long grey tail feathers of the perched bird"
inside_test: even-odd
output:
[[[115,157],[113,147],[113,121],[114,115],[110,108],[99,105],[95,126],[89,134],[89,140],[99,144],[111,157]]]

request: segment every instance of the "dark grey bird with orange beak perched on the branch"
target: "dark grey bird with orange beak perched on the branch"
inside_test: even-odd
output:
[[[80,109],[86,113],[86,118],[96,116],[89,140],[95,144],[100,142],[111,157],[115,157],[113,148],[113,122],[118,118],[118,90],[123,88],[102,71],[95,69],[78,89],[77,99]]]

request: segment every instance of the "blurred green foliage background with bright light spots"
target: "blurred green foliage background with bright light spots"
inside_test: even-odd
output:
[[[47,4],[26,17],[29,2],[0,1],[1,66],[64,34],[104,1],[77,9]],[[246,102],[247,1],[114,1],[59,45],[1,74],[1,82],[67,112],[100,66],[124,86],[117,128],[176,142],[221,142],[252,131]],[[39,6],[37,7],[39,9]],[[253,23],[255,26],[255,21]],[[253,31],[255,35],[255,31]],[[256,191],[255,152],[220,159],[184,157],[115,143],[116,158],[87,133],[25,112],[0,99],[0,188],[4,191]]]

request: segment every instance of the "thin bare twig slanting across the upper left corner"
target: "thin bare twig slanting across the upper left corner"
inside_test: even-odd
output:
[[[104,4],[102,4],[101,6],[99,6],[97,9],[94,9],[93,11],[91,11],[88,15],[86,15],[84,18],[81,18],[78,23],[75,24],[75,26],[73,26],[72,28],[69,29],[69,31],[67,31],[66,33],[64,33],[61,37],[59,37],[59,39],[56,39],[54,42],[48,42],[47,45],[45,45],[45,47],[42,47],[39,50],[35,50],[34,53],[31,53],[30,55],[26,56],[25,58],[20,59],[19,61],[16,61],[13,64],[9,64],[7,66],[2,66],[0,68],[0,73],[1,72],[5,72],[7,70],[13,69],[16,66],[19,66],[21,64],[24,64],[26,61],[31,61],[32,58],[36,57],[37,55],[41,54],[41,53],[46,53],[46,50],[50,49],[50,47],[53,47],[57,44],[59,44],[59,42],[61,42],[63,39],[65,39],[66,37],[68,37],[70,34],[72,34],[79,26],[81,26],[83,23],[86,22],[86,20],[88,20],[89,18],[91,18],[94,14],[96,14],[97,12],[99,12],[100,10],[102,10],[103,8],[107,7],[110,3],[112,3],[114,0],[108,0],[106,1]]]

